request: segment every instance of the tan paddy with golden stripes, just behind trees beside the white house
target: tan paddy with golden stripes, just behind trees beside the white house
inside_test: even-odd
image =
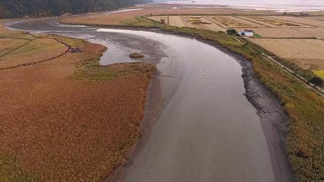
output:
[[[242,28],[242,27],[251,27],[251,25],[237,21],[235,19],[229,18],[230,16],[205,16],[210,21],[225,27],[225,28]]]

